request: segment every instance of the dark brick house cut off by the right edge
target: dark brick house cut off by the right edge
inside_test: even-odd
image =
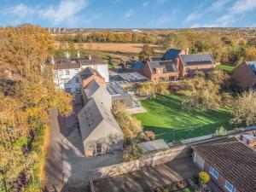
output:
[[[232,70],[231,77],[242,90],[256,89],[256,61],[244,61]]]

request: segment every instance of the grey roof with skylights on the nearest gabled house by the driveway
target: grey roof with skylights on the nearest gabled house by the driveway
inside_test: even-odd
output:
[[[96,130],[102,121],[104,121],[102,126],[104,129],[106,129],[106,131],[109,132],[110,129],[114,129],[120,134],[123,134],[118,123],[114,119],[113,114],[104,108],[100,102],[96,102],[93,98],[90,99],[84,108],[80,110],[78,117],[82,141],[88,138],[90,133]],[[102,137],[105,137],[104,134],[105,132],[102,132]]]

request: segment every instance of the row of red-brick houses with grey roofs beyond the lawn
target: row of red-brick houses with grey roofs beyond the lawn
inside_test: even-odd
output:
[[[153,82],[193,77],[196,71],[211,72],[216,63],[211,54],[189,54],[189,49],[169,49],[163,56],[152,57],[141,73]]]

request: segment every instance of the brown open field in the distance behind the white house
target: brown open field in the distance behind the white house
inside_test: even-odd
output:
[[[59,46],[59,43],[56,43]],[[121,53],[139,53],[144,44],[110,44],[110,43],[85,43],[83,44],[84,49],[90,50],[101,50],[101,51],[111,51],[111,52],[121,52]],[[149,46],[154,48],[156,53],[164,53],[165,50],[157,44],[149,44]],[[79,46],[76,44],[76,47]]]

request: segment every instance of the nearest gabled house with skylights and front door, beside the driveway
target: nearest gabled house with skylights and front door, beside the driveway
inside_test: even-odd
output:
[[[85,156],[105,154],[122,148],[123,131],[102,102],[91,98],[79,112],[78,118]]]

